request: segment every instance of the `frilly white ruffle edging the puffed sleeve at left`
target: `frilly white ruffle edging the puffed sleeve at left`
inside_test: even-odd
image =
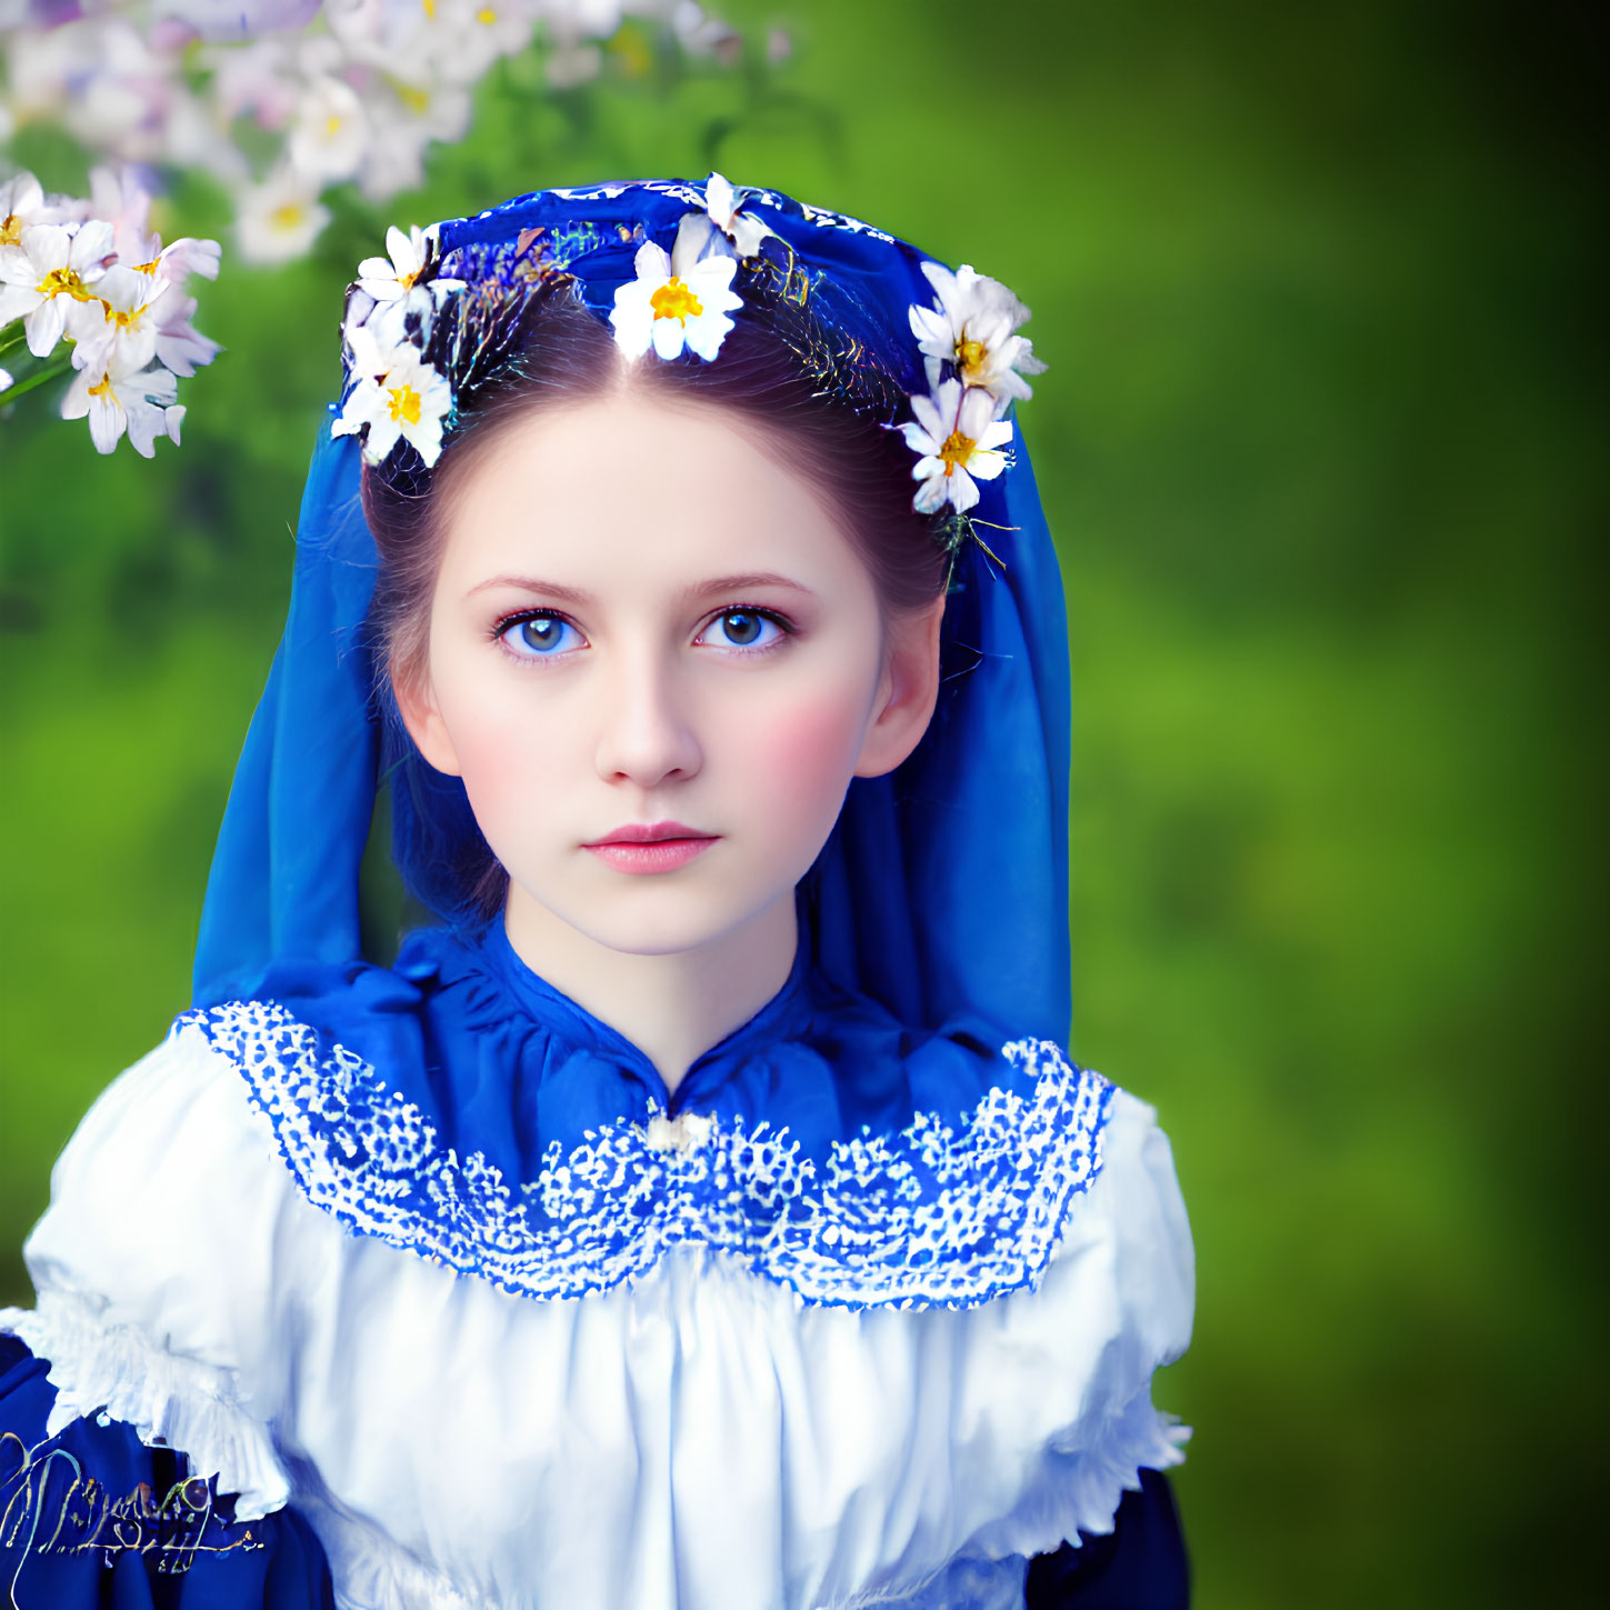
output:
[[[0,1309],[0,1330],[48,1362],[55,1436],[105,1412],[134,1426],[148,1447],[188,1457],[201,1476],[237,1494],[235,1518],[261,1520],[290,1499],[290,1481],[264,1425],[240,1404],[233,1373],[156,1348],[132,1325],[108,1325],[87,1299],[43,1291],[37,1309]]]

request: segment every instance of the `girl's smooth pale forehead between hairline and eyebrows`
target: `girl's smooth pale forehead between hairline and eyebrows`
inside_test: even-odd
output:
[[[588,589],[760,570],[871,588],[816,489],[765,433],[720,407],[626,390],[501,427],[452,488],[444,536],[444,586],[539,564]]]

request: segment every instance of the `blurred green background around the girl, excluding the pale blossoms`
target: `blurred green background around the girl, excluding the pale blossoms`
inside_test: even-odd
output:
[[[1156,1103],[1191,1208],[1196,1343],[1158,1399],[1196,1426],[1199,1605],[1587,1604],[1587,10],[718,10],[745,66],[625,50],[543,103],[506,71],[425,193],[348,198],[291,269],[225,253],[196,322],[229,351],[184,383],[182,449],[0,427],[0,1301],[29,1301],[16,1248],[56,1150],[187,1003],[357,259],[388,219],[713,163],[1035,309],[1051,369],[1022,431],[1075,673],[1074,1050]],[[774,68],[770,24],[794,40]],[[14,155],[82,188],[47,137]],[[222,219],[184,190],[166,232]]]

